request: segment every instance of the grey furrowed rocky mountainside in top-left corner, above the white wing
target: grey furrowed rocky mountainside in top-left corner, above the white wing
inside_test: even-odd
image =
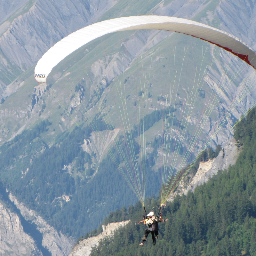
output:
[[[51,46],[70,33],[92,24],[116,3],[115,0],[37,0],[26,5],[26,2],[14,0],[12,6],[3,6],[6,18],[21,6],[24,10],[22,15],[18,12],[12,22],[7,20],[0,24],[0,70],[5,72],[5,76],[0,75],[2,92]]]

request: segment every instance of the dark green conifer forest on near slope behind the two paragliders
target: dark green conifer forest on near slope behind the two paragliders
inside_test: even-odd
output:
[[[236,164],[219,170],[194,193],[176,196],[163,210],[167,222],[159,224],[156,246],[144,234],[143,208],[135,206],[111,212],[109,222],[131,220],[112,236],[100,241],[91,256],[196,256],[256,255],[256,109],[235,126],[234,138],[241,153]],[[158,212],[159,198],[147,198],[146,210]],[[95,230],[94,232],[96,232]],[[87,237],[92,234],[87,234]]]

